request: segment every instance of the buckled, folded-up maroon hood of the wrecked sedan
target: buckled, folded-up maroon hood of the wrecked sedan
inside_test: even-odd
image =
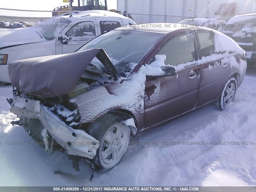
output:
[[[106,52],[97,48],[12,62],[8,66],[9,76],[12,84],[25,94],[45,98],[61,96],[76,88],[94,57],[114,78],[120,77]]]

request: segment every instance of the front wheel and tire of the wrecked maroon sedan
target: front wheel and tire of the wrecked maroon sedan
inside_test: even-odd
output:
[[[92,168],[96,171],[108,171],[114,168],[122,160],[128,148],[130,127],[122,123],[118,115],[105,114],[92,123],[87,132],[100,142]]]

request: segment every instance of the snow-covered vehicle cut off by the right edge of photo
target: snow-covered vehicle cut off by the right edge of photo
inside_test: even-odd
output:
[[[222,32],[246,51],[248,65],[256,67],[256,13],[232,17]]]

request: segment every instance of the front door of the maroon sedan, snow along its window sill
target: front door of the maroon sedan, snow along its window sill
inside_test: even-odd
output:
[[[146,81],[145,128],[192,110],[200,84],[200,64],[194,33],[171,38],[156,53],[166,55],[165,64],[176,68],[176,75]]]

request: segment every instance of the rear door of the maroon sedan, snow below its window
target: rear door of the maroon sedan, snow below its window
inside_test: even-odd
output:
[[[197,31],[196,38],[201,63],[201,82],[196,103],[196,107],[199,107],[218,98],[231,74],[231,68],[228,58],[222,53],[215,53],[213,32]]]

